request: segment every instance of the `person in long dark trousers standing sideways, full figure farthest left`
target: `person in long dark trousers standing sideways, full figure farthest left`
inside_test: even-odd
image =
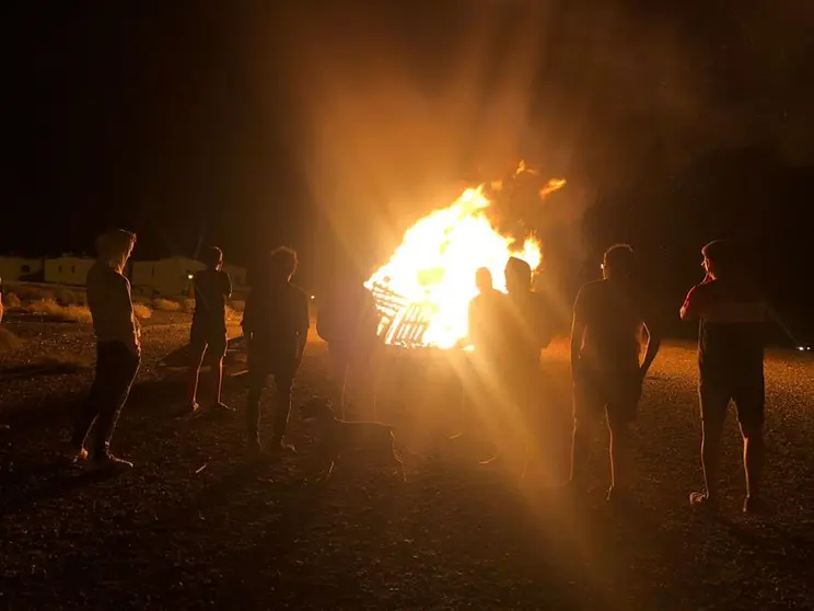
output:
[[[116,420],[130,393],[141,359],[141,330],[133,315],[130,281],[125,277],[136,235],[117,229],[96,240],[98,260],[88,272],[88,306],[96,335],[96,374],[73,425],[69,449],[72,462],[89,461],[98,469],[127,469],[132,463],[109,451]],[[85,440],[94,422],[90,448]]]

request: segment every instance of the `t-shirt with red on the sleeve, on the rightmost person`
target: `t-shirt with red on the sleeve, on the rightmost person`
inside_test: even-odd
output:
[[[765,333],[770,316],[756,291],[737,283],[711,280],[693,287],[684,308],[700,319],[701,379],[763,377]]]

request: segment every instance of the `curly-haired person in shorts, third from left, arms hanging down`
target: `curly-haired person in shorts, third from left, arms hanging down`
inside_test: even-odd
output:
[[[246,425],[249,450],[263,452],[259,439],[260,397],[268,376],[275,377],[277,405],[275,452],[294,451],[283,442],[291,413],[294,376],[300,368],[309,334],[309,299],[291,284],[296,272],[296,253],[279,247],[271,253],[268,268],[252,287],[243,313],[243,332],[248,344],[248,397]]]

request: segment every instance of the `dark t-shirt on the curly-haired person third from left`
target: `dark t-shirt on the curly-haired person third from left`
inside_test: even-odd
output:
[[[252,289],[246,298],[243,331],[252,335],[249,357],[299,361],[310,325],[309,298],[290,283]]]

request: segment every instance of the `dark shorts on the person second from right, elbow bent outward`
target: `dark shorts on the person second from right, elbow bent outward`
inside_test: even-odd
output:
[[[607,417],[610,427],[636,420],[641,399],[638,370],[620,372],[584,371],[573,380],[573,417],[597,420]]]

